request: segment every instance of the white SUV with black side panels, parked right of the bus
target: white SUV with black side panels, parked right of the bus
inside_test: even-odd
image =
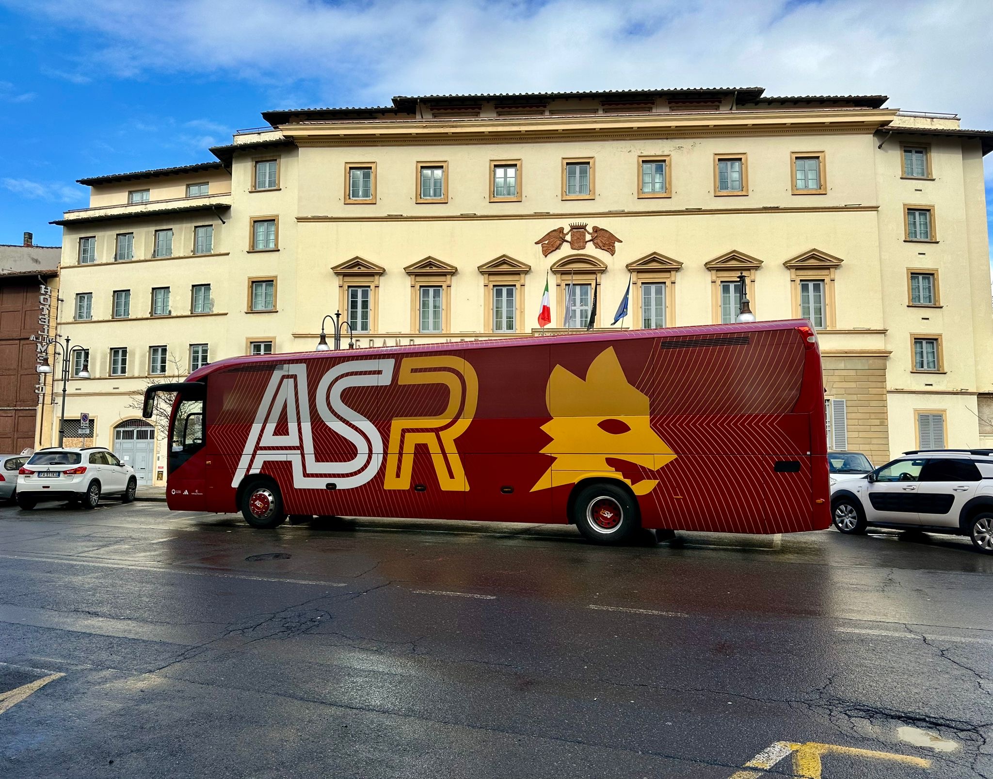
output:
[[[968,536],[993,554],[993,449],[905,452],[858,479],[831,485],[831,517],[842,533],[866,527]]]

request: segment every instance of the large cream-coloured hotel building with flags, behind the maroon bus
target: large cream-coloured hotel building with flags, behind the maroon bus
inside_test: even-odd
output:
[[[139,432],[137,392],[313,350],[336,310],[358,348],[537,334],[547,277],[545,332],[570,293],[583,326],[594,289],[610,328],[631,280],[615,329],[694,325],[737,314],[744,273],[760,320],[816,324],[834,447],[881,463],[993,446],[993,133],[878,95],[762,92],[270,111],[217,162],[82,179],[90,207],[57,223],[60,331],[93,378],[71,382],[67,416],[89,413],[97,443],[144,452],[158,478],[166,447]]]

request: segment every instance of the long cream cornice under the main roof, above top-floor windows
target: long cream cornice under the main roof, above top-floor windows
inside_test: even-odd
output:
[[[316,121],[284,124],[298,146],[536,143],[608,139],[872,133],[895,109],[819,108],[582,116]]]

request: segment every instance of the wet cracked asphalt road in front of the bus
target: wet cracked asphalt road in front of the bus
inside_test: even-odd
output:
[[[991,595],[939,536],[0,508],[0,775],[993,776]]]

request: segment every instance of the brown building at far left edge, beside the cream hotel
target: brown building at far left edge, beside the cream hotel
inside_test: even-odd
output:
[[[37,366],[56,320],[61,256],[61,247],[37,246],[31,233],[21,244],[0,244],[2,454],[36,448],[50,430],[52,381]]]

